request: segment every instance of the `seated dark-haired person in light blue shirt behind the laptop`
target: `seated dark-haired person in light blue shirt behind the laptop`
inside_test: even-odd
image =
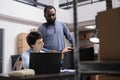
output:
[[[41,52],[44,53],[45,51],[52,51],[52,50],[45,50],[43,48],[43,38],[42,34],[37,31],[30,32],[27,37],[26,37],[27,43],[30,46],[30,49],[22,53],[22,62],[23,62],[23,67],[25,69],[29,68],[29,58],[30,58],[30,53],[31,52]],[[61,53],[69,52],[70,47],[65,48],[62,50]]]

